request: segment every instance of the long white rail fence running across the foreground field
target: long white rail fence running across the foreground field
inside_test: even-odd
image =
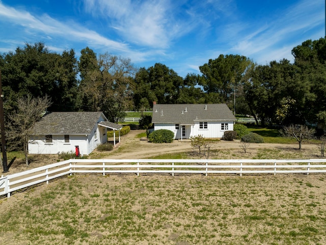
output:
[[[310,174],[326,173],[326,159],[70,159],[0,178],[0,196],[73,174]]]

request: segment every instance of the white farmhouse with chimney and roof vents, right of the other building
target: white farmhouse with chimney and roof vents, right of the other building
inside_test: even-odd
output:
[[[225,131],[233,130],[235,120],[226,104],[153,105],[154,130],[171,130],[175,139],[222,138]]]

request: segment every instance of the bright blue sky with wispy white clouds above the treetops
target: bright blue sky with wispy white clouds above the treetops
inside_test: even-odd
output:
[[[294,46],[325,36],[324,18],[324,0],[0,0],[0,53],[88,46],[184,77],[220,54],[292,62]]]

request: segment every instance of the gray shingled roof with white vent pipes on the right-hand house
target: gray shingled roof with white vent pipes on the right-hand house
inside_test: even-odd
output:
[[[206,110],[205,110],[206,108]],[[226,104],[153,105],[152,123],[193,125],[195,120],[236,120]]]

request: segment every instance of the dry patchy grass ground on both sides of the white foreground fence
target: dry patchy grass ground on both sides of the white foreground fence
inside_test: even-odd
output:
[[[221,141],[213,144],[212,158],[318,157],[315,145],[303,148],[252,144],[244,154],[238,142]],[[123,138],[120,148],[110,154],[95,152],[91,157],[99,156],[196,154],[189,142],[158,147],[131,137]],[[13,164],[10,172],[23,169]],[[326,175],[303,174],[64,177],[0,199],[0,242],[326,244],[325,184]]]

